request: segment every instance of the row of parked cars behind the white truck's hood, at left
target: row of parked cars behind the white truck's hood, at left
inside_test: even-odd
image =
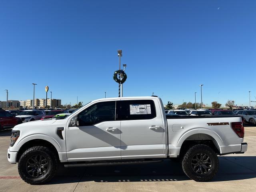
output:
[[[65,118],[76,109],[50,109],[50,110],[0,110],[0,130],[8,129],[17,124],[45,120],[50,118]]]

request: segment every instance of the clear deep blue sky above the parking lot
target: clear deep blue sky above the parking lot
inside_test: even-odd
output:
[[[256,100],[256,1],[0,2],[0,89],[9,99],[62,104],[118,96],[118,49],[128,76],[124,96],[164,103],[249,105]],[[0,100],[6,93],[0,92]],[[253,105],[256,103],[252,103]]]

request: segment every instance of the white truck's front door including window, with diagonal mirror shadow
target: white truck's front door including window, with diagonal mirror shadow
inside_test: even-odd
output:
[[[116,101],[94,103],[81,111],[78,124],[66,128],[68,161],[121,159]]]

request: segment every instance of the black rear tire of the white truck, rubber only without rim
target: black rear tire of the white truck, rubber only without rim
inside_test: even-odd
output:
[[[210,161],[212,163],[211,169],[209,170],[208,173],[205,173],[205,174],[198,174],[192,168],[192,158],[196,154],[200,154],[200,153],[206,154],[208,157],[210,157]],[[212,150],[212,148],[210,148],[207,145],[198,144],[198,145],[192,146],[186,152],[182,160],[182,169],[184,173],[189,178],[197,182],[206,182],[206,181],[212,180],[212,178],[214,178],[214,176],[218,172],[218,168],[219,168],[218,156],[216,152],[214,152],[214,150]]]

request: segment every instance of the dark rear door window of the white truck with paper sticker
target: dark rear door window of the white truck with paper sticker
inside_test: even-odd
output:
[[[117,102],[117,120],[143,120],[156,117],[153,100],[124,100]]]

